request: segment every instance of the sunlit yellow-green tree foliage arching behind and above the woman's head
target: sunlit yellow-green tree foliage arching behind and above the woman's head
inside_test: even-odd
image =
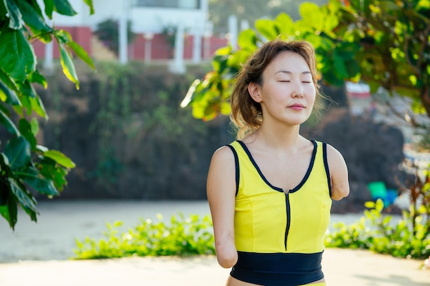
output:
[[[305,39],[317,50],[325,84],[363,80],[371,92],[413,99],[414,112],[430,116],[430,6],[425,0],[331,0],[319,7],[302,3],[302,19],[281,13],[260,19],[238,36],[238,49],[223,47],[212,60],[213,71],[190,86],[184,106],[203,120],[229,114],[228,98],[240,64],[259,45],[274,38]],[[414,123],[414,122],[412,122]]]

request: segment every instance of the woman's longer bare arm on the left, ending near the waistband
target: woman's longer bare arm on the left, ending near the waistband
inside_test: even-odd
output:
[[[234,244],[234,200],[236,169],[229,147],[216,150],[207,174],[207,200],[214,222],[215,250],[218,263],[233,267],[238,260]]]

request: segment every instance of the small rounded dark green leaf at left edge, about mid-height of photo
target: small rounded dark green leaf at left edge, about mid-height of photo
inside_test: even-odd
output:
[[[12,170],[27,166],[31,160],[30,143],[23,136],[10,139],[5,145],[4,153],[9,159]]]

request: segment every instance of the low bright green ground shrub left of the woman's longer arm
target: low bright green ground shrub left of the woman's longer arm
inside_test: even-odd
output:
[[[208,215],[181,213],[172,215],[170,224],[165,224],[162,215],[157,215],[158,223],[151,219],[141,219],[135,228],[121,233],[122,222],[107,224],[105,239],[76,239],[75,259],[103,259],[131,256],[187,256],[215,254],[212,221]]]

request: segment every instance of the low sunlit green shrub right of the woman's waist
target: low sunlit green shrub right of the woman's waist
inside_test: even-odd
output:
[[[326,235],[326,246],[361,248],[391,254],[394,257],[425,259],[430,255],[430,166],[425,179],[416,177],[409,189],[411,205],[403,210],[396,224],[391,215],[383,215],[383,201],[366,202],[369,208],[356,224],[335,224]]]

